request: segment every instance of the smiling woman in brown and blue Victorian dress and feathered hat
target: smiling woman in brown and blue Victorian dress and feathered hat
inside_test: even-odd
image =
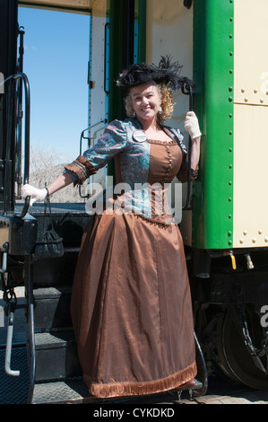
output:
[[[44,200],[82,183],[111,158],[117,186],[128,187],[115,189],[106,208],[91,217],[73,281],[71,312],[83,380],[99,398],[195,385],[184,246],[164,206],[167,186],[176,176],[186,181],[187,165],[197,176],[201,133],[195,113],[186,115],[191,163],[180,131],[163,125],[173,108],[171,88],[185,81],[164,58],[160,66],[131,66],[117,81],[131,117],[111,122],[48,189],[23,187],[32,202]]]

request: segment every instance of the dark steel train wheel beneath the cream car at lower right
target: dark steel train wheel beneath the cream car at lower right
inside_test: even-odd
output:
[[[264,332],[258,316],[247,309],[246,321],[255,347],[261,348]],[[255,360],[246,347],[238,314],[231,308],[220,321],[217,343],[221,369],[231,379],[256,390],[268,390],[268,374],[255,365]],[[267,369],[267,356],[264,355],[260,359]]]

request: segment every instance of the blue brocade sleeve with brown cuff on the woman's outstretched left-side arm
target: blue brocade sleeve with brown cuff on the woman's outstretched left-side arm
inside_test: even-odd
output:
[[[122,121],[114,120],[109,123],[97,144],[79,155],[73,163],[65,165],[65,171],[73,173],[74,185],[82,184],[111,158],[122,152],[127,145],[126,137]]]

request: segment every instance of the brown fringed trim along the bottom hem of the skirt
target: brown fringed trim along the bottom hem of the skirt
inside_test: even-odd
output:
[[[175,390],[179,385],[195,378],[196,364],[189,365],[177,374],[151,382],[91,382],[90,377],[83,375],[83,380],[92,396],[99,399],[113,397],[143,396],[159,392]]]

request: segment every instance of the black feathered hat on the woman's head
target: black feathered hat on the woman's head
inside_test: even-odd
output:
[[[194,86],[193,81],[179,75],[181,68],[182,66],[177,62],[172,63],[169,56],[162,56],[159,66],[150,66],[146,63],[130,66],[128,70],[124,70],[118,76],[117,86],[123,92],[150,81],[154,81],[156,84],[165,83],[174,91],[181,89],[184,85]]]

